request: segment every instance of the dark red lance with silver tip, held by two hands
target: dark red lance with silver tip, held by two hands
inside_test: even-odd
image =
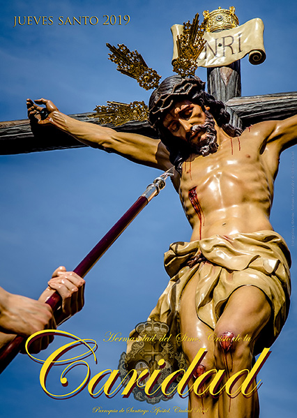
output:
[[[172,177],[174,175],[174,167],[171,167],[167,172],[164,172],[157,177],[152,184],[149,184],[146,188],[146,191],[138,197],[136,202],[128,209],[128,211],[123,214],[123,216],[117,221],[114,226],[105,234],[105,236],[100,239],[98,244],[89,252],[89,254],[84,257],[84,259],[75,267],[73,270],[76,274],[81,277],[86,276],[89,270],[93,267],[96,262],[102,257],[102,255],[108,250],[114,241],[121,235],[128,225],[133,221],[133,219],[139,214],[142,209],[150,202],[153,197],[159,194],[160,190],[165,187],[165,180],[167,177]],[[54,292],[47,301],[46,304],[50,305],[53,312],[61,307],[61,296],[58,292]],[[59,318],[57,319],[59,323]],[[0,350],[0,373],[10,364],[18,352],[20,352],[22,346],[24,345],[25,337],[16,336],[13,341],[5,345]]]

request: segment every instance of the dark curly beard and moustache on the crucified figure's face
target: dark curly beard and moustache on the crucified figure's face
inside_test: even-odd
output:
[[[192,132],[188,135],[188,142],[190,147],[195,154],[201,156],[208,156],[209,154],[215,153],[218,150],[217,143],[217,131],[215,130],[215,121],[211,113],[205,110],[206,121],[204,124],[193,125]],[[201,132],[202,135],[199,137],[199,143],[191,142],[192,135]],[[202,138],[203,137],[203,138]]]

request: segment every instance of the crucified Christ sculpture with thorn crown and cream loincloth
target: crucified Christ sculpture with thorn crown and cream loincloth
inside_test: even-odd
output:
[[[289,250],[269,214],[280,154],[297,139],[297,117],[242,132],[229,125],[223,103],[206,94],[198,77],[178,75],[164,80],[150,99],[149,119],[160,140],[77,121],[49,100],[36,103],[27,101],[32,122],[52,124],[136,163],[160,170],[174,165],[174,187],[192,237],[165,254],[171,279],[150,318],[184,336],[189,362],[206,348],[194,378],[213,368],[229,375],[250,370],[254,355],[277,338],[289,309]],[[45,120],[40,105],[47,109]],[[191,392],[189,410],[201,402]],[[203,404],[205,418],[259,417],[256,390],[249,398],[206,395]]]

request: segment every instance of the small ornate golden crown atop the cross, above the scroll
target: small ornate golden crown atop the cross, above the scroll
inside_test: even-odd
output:
[[[222,31],[224,29],[232,29],[238,26],[238,17],[235,14],[235,7],[226,8],[219,7],[212,12],[204,10],[204,24],[207,32]]]

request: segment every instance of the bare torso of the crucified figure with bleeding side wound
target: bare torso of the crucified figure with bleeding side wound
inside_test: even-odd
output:
[[[238,138],[220,135],[215,154],[183,163],[179,195],[192,241],[273,229],[269,214],[278,159],[260,138],[248,129]]]

